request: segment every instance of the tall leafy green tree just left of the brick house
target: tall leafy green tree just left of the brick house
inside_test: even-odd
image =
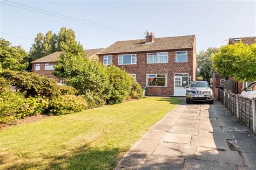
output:
[[[104,91],[109,84],[106,67],[97,61],[90,61],[85,56],[82,45],[77,42],[69,44],[59,55],[53,74],[64,78],[67,85],[76,88],[79,95],[84,95],[89,108],[105,103]]]

